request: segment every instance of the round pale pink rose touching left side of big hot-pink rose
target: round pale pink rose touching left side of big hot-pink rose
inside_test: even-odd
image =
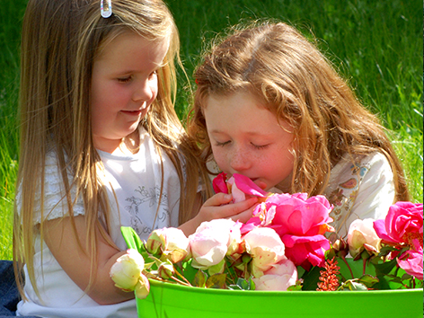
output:
[[[252,273],[255,277],[260,277],[261,272],[286,259],[284,243],[272,228],[255,227],[243,236],[243,240],[246,252],[252,256]]]

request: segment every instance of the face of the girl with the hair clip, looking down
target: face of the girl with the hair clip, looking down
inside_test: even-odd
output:
[[[104,46],[93,64],[90,95],[97,149],[113,152],[146,116],[168,46],[168,40],[151,42],[130,31]]]

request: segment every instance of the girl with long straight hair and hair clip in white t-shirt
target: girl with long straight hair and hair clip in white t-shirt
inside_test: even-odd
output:
[[[120,226],[143,239],[183,227],[210,192],[173,108],[178,52],[161,0],[29,1],[13,229],[18,315],[137,315],[134,294],[110,279],[127,249]]]

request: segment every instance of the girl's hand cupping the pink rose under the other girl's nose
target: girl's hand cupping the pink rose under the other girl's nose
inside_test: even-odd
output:
[[[252,212],[256,208],[258,198],[250,198],[237,203],[230,203],[233,199],[231,194],[217,193],[208,199],[201,208],[200,196],[198,196],[197,208],[199,213],[179,228],[187,236],[193,234],[202,222],[210,221],[216,218],[229,218],[234,221],[247,222],[252,217]]]

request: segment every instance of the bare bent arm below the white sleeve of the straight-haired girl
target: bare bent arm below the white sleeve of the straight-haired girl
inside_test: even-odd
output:
[[[86,248],[85,216],[75,216],[75,229],[81,245],[75,238],[70,217],[57,218],[44,224],[44,240],[57,262],[66,274],[83,290],[90,282],[91,255]],[[119,256],[125,254],[110,246],[102,238],[100,230],[96,231],[97,271],[92,286],[87,290],[100,305],[116,304],[134,298],[134,293],[126,293],[114,286],[110,278],[110,267]]]

